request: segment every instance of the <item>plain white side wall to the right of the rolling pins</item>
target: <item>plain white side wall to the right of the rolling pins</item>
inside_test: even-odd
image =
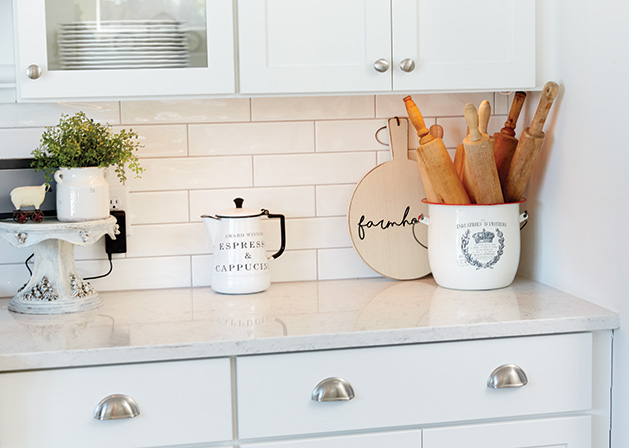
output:
[[[557,1],[560,95],[530,183],[535,211],[521,272],[620,312],[612,446],[629,446],[629,5]]]

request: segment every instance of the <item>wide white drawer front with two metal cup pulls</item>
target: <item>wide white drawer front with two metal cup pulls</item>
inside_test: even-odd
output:
[[[489,388],[505,364],[523,369],[528,384]],[[568,412],[591,407],[592,336],[250,356],[237,372],[241,438]],[[347,380],[355,397],[312,400],[330,377]]]

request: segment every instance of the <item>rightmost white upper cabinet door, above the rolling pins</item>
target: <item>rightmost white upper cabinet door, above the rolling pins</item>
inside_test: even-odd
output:
[[[535,0],[392,2],[393,90],[535,87]]]

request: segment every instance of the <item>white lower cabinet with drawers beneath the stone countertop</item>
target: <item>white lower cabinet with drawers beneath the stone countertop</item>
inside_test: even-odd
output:
[[[573,333],[2,373],[0,447],[599,448],[610,342]],[[113,394],[140,414],[95,419]]]

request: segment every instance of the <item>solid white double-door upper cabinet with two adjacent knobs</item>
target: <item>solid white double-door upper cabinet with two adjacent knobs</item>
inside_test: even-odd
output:
[[[239,0],[244,94],[535,87],[535,0]]]

